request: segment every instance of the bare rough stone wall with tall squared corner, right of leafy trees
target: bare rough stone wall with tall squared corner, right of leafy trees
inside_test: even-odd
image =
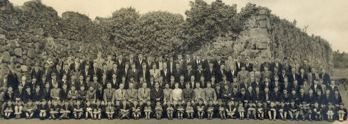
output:
[[[201,55],[208,53],[221,54],[225,59],[231,54],[233,58],[241,55],[271,57],[270,38],[268,34],[269,13],[265,9],[257,11],[248,19],[239,34],[227,33],[216,37],[197,52]]]

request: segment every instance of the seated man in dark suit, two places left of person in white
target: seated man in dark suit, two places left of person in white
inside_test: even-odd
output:
[[[158,82],[155,82],[155,87],[150,91],[150,99],[152,104],[156,104],[158,101],[163,103],[163,97],[163,89],[160,88],[160,84]]]

